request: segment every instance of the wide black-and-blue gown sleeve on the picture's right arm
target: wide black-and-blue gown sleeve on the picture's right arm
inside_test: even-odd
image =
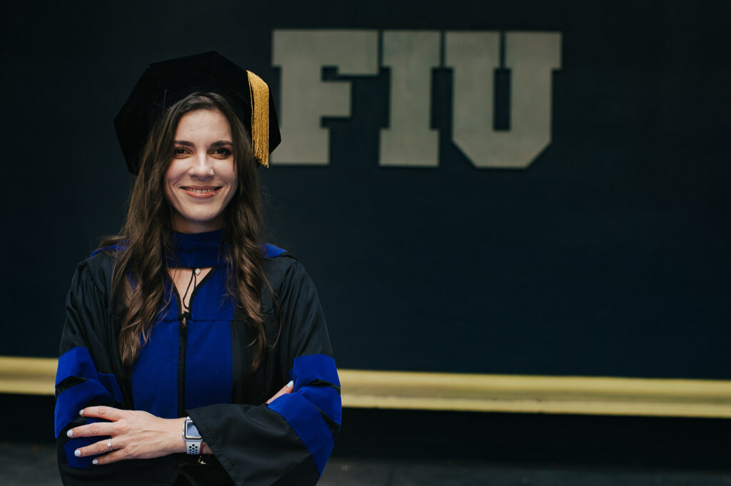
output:
[[[276,301],[279,359],[286,361],[293,392],[269,405],[186,411],[236,485],[314,485],[341,425],[340,382],[325,317],[297,261],[288,266]]]

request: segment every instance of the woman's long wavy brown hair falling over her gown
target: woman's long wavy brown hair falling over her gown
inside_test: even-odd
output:
[[[257,159],[246,129],[228,102],[216,93],[192,93],[167,109],[156,121],[143,148],[140,172],[132,189],[129,210],[121,234],[102,240],[102,250],[118,245],[112,285],[115,298],[127,313],[119,331],[119,355],[132,365],[143,343],[150,339],[165,296],[164,254],[170,252],[173,209],[164,195],[164,174],[173,159],[175,131],[186,113],[199,109],[221,112],[231,128],[238,188],[224,209],[225,258],[230,267],[228,290],[238,301],[253,331],[251,370],[257,369],[266,350],[262,315],[262,287],[269,288],[262,267],[259,242],[262,209],[257,182]],[[142,343],[140,343],[140,336]]]

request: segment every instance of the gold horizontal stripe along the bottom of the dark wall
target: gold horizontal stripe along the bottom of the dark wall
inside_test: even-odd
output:
[[[373,409],[731,418],[731,381],[339,370],[343,405]],[[54,358],[0,356],[0,393],[53,395]]]

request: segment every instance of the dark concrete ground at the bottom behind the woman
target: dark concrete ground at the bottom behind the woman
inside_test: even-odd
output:
[[[0,485],[61,485],[53,445],[0,443]],[[731,486],[731,472],[334,457],[319,485]]]

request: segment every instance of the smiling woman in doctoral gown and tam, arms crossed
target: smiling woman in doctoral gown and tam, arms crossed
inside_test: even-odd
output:
[[[164,61],[115,126],[137,180],[122,234],[69,290],[64,484],[314,484],[340,388],[311,280],[258,240],[268,88],[218,53]]]

